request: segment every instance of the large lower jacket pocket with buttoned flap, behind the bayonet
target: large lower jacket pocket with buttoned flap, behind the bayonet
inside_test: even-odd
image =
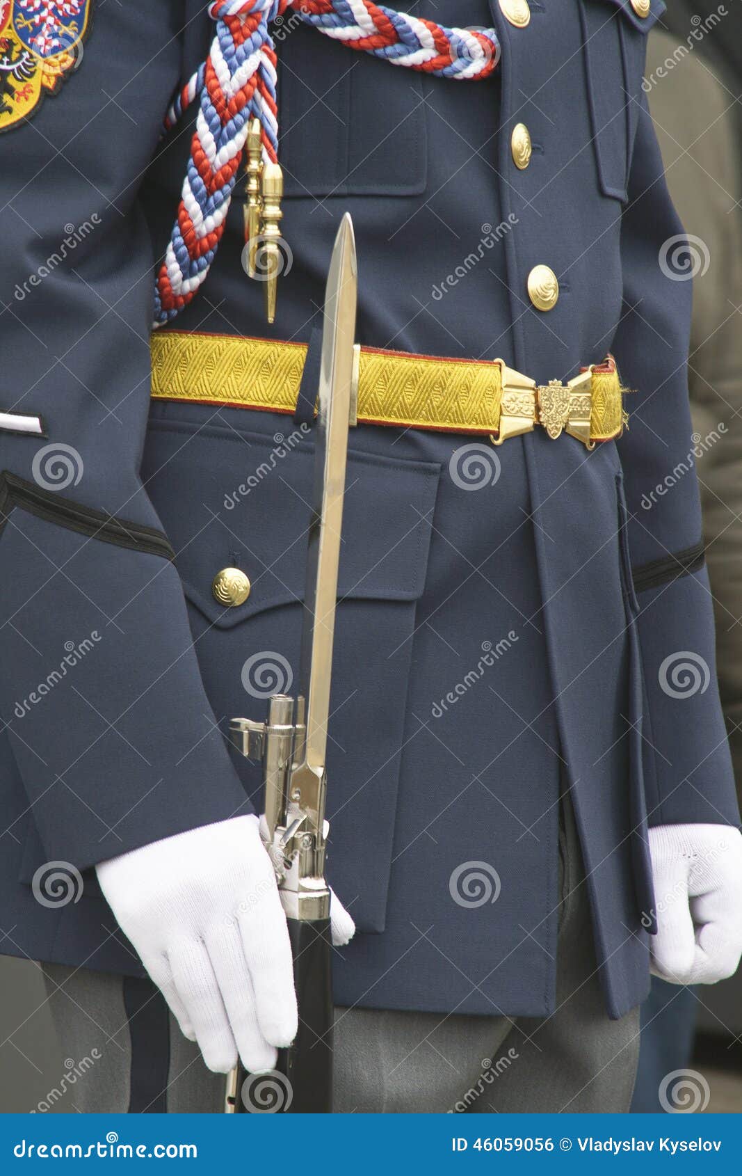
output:
[[[250,428],[255,417],[275,427],[273,415],[241,415]],[[298,690],[313,461],[299,430],[279,442],[268,432],[151,425],[142,473],[175,548],[203,682],[225,730],[234,716],[263,719],[269,694]],[[439,474],[434,463],[348,455],[328,727],[328,876],[363,931],[385,927],[415,608]],[[250,592],[226,608],[212,582],[235,566]],[[259,766],[235,753],[235,767],[261,811]]]

